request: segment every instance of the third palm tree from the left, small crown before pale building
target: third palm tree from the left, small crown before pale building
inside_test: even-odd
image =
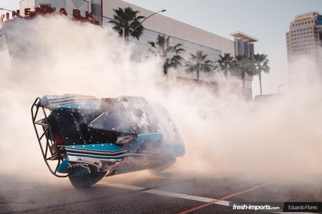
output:
[[[200,71],[211,71],[212,65],[210,60],[207,59],[208,55],[204,55],[202,53],[202,50],[197,50],[197,52],[194,54],[190,53],[191,57],[188,62],[186,62],[186,67],[188,71],[197,72],[197,80],[199,80],[200,77]]]

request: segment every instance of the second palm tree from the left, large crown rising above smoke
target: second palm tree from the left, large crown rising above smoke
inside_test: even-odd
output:
[[[181,48],[181,43],[170,45],[169,40],[170,36],[165,38],[165,35],[158,35],[155,42],[148,41],[148,44],[151,45],[149,51],[162,58],[162,68],[165,75],[168,74],[168,69],[176,69],[178,66],[182,66],[181,62],[183,61],[183,58],[180,54],[185,51]]]

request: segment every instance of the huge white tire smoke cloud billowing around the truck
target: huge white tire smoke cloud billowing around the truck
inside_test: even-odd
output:
[[[131,45],[125,46],[111,29],[58,15],[15,22],[10,35],[20,41],[15,44],[20,51],[0,70],[1,169],[48,173],[30,107],[36,97],[71,93],[134,95],[163,104],[186,143],[186,155],[173,171],[321,173],[322,90],[309,59],[293,64],[293,70],[302,71],[297,75],[301,84],[290,86],[288,94],[262,101],[230,94],[218,99],[202,89],[179,87],[171,79],[167,83],[158,58],[132,61]],[[8,57],[1,61],[9,64]]]

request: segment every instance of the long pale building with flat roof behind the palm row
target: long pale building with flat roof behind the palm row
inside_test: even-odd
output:
[[[95,1],[95,0],[94,0]],[[99,0],[96,0],[96,4],[99,5]],[[102,1],[102,20],[103,26],[109,26],[109,21],[113,18],[114,11],[118,7],[125,8],[130,6],[134,10],[139,10],[140,15],[144,15],[148,17],[151,15],[153,11],[146,10],[145,8],[141,8],[139,6],[132,5],[125,1],[120,0],[103,0]],[[99,17],[97,15],[97,17]],[[216,34],[212,34],[209,31],[204,31],[197,27],[193,27],[190,24],[186,24],[183,22],[179,22],[178,20],[174,20],[169,17],[165,17],[161,14],[153,15],[146,22],[144,22],[144,34],[141,36],[139,41],[132,39],[131,41],[135,43],[134,46],[134,55],[133,58],[139,59],[140,57],[147,54],[148,41],[155,41],[155,38],[159,34],[165,36],[171,36],[170,42],[172,44],[181,43],[182,48],[186,50],[183,53],[184,59],[189,59],[190,53],[195,53],[197,50],[202,50],[205,54],[208,55],[208,59],[212,62],[216,62],[219,59],[219,55],[223,55],[224,53],[230,53],[230,55],[252,55],[254,52],[254,45],[256,38],[248,36],[247,34],[243,34],[240,31],[231,34],[234,40],[230,40],[228,38],[224,38],[222,36],[218,36]],[[236,45],[239,44],[239,45]],[[188,78],[194,78],[195,74],[192,73],[180,73],[180,76],[185,76]],[[221,79],[218,79],[216,76],[209,78],[208,75],[200,75],[201,80],[210,80],[215,85],[218,86],[219,93],[221,94],[221,89],[223,88],[223,83],[221,83]],[[246,84],[245,91],[241,92],[242,85],[241,80],[236,80],[232,78],[228,80],[229,83],[225,83],[225,85],[230,85],[230,87],[235,87],[235,91],[241,92],[244,94],[246,99],[251,99],[253,97],[252,93],[252,80],[250,76],[246,76]]]

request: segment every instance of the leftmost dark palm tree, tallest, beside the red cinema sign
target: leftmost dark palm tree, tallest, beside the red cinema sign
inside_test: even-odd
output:
[[[124,36],[125,43],[129,43],[130,36],[139,39],[144,31],[144,27],[140,24],[140,20],[145,17],[142,15],[137,16],[138,10],[133,10],[130,7],[113,9],[116,14],[113,15],[113,29],[118,31],[120,37]],[[139,27],[137,27],[140,24]],[[137,27],[135,31],[133,29]]]

